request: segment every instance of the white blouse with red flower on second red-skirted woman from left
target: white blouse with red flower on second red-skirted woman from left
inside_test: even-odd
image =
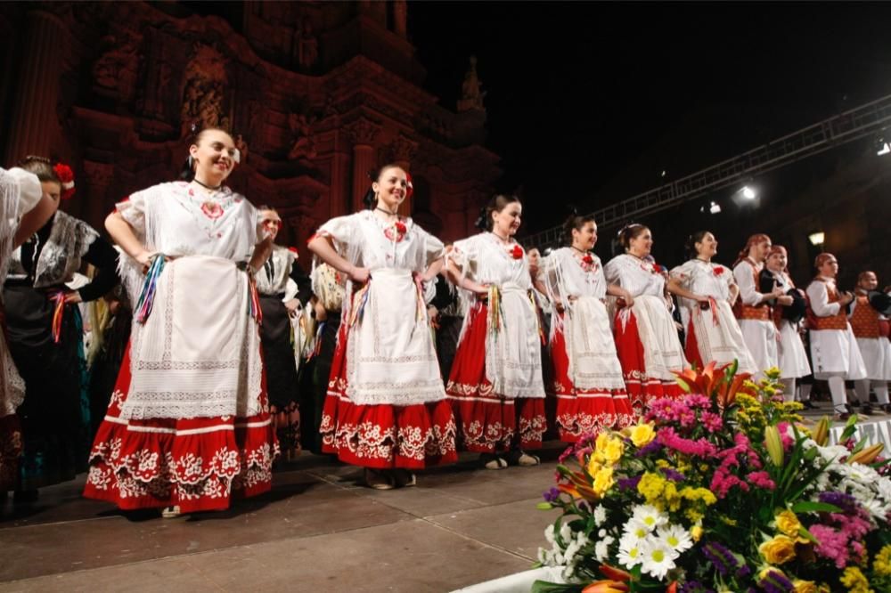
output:
[[[444,250],[442,241],[411,218],[387,223],[372,210],[332,218],[316,234],[330,237],[339,255],[350,264],[372,271],[395,268],[424,272],[443,256]]]

